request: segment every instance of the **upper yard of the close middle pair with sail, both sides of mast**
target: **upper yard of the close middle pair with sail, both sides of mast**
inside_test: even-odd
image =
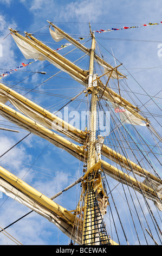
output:
[[[4,95],[4,96],[3,96]],[[27,115],[27,117],[32,118],[36,122],[40,123],[41,125],[47,127],[48,129],[54,129],[57,130],[69,138],[74,139],[74,141],[83,143],[86,138],[85,133],[82,133],[82,131],[75,129],[75,127],[69,125],[68,123],[64,122],[62,119],[57,118],[54,114],[46,111],[46,109],[41,108],[40,106],[36,105],[34,102],[28,100],[27,98],[23,97],[22,95],[14,92],[14,90],[9,89],[7,86],[4,86],[3,84],[0,83],[0,99],[1,97],[4,97],[5,100],[9,100],[12,105],[14,105],[20,112],[23,114]],[[38,112],[39,109],[39,112]],[[56,119],[57,118],[57,119]],[[54,122],[55,120],[55,122]],[[14,119],[12,118],[12,121]],[[23,124],[24,127],[24,124]],[[65,129],[67,127],[67,129]],[[26,127],[27,129],[27,127]],[[29,127],[28,127],[29,129]],[[65,130],[64,130],[65,129]],[[36,131],[35,131],[36,132]],[[38,131],[37,131],[38,132]],[[38,133],[37,133],[38,135]],[[42,135],[41,135],[42,136]],[[48,138],[44,136],[44,138]],[[129,160],[125,159],[124,156],[116,153],[115,151],[111,150],[110,148],[106,147],[106,145],[103,145],[103,141],[97,141],[96,143],[96,152],[99,154],[97,156],[103,154],[104,156],[108,157],[108,159],[111,159],[113,161],[118,162],[122,167],[126,167],[127,169],[130,169],[129,164],[127,162]],[[98,144],[99,143],[99,144]],[[102,147],[102,153],[101,153],[101,147]],[[109,153],[112,153],[112,156]],[[116,158],[114,156],[116,155]],[[122,161],[119,161],[119,159],[125,160],[123,163]],[[147,171],[140,168],[137,164],[130,162],[132,164],[133,171],[137,173],[140,176],[147,177]],[[131,169],[130,169],[131,170]],[[145,173],[144,173],[145,171]],[[148,174],[150,176],[150,174]],[[150,177],[151,179],[151,177]],[[154,181],[154,177],[152,177],[152,182]],[[157,186],[160,186],[161,184],[157,182]]]

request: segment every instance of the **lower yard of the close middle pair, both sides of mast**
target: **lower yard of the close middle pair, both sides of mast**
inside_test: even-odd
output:
[[[44,139],[47,139],[50,143],[54,144],[56,147],[62,148],[66,150],[68,153],[76,157],[82,162],[87,161],[87,151],[85,150],[84,147],[79,147],[78,145],[75,145],[72,142],[69,142],[67,139],[62,138],[59,135],[56,135],[56,133],[48,130],[46,127],[36,123],[34,120],[31,120],[30,118],[25,117],[21,113],[18,113],[14,109],[5,106],[3,103],[0,102],[0,113],[4,118],[7,118],[11,122],[15,123],[16,125],[22,127],[25,130],[28,130],[32,132],[33,134],[40,136]],[[119,170],[111,164],[106,163],[105,161],[102,162],[103,165],[103,170],[105,170],[107,175],[113,176],[116,179],[116,174],[119,176]],[[129,175],[125,174],[124,172],[120,171],[122,175],[120,175],[120,179],[118,180],[120,182],[123,182],[125,184],[125,177],[127,179],[131,179]],[[151,188],[149,188],[146,185],[143,185],[139,187],[139,182],[136,180],[133,181],[135,184],[135,187],[137,188],[138,192],[141,192],[142,190],[146,191],[149,193]],[[128,182],[128,185],[131,186],[131,183]],[[140,189],[139,189],[140,188]],[[148,190],[148,191],[147,191]],[[149,199],[153,200],[154,202],[159,202],[159,196],[157,198],[157,192],[155,192],[152,189],[151,195],[147,195]],[[153,194],[153,196],[152,196]],[[160,210],[160,206],[157,206]]]

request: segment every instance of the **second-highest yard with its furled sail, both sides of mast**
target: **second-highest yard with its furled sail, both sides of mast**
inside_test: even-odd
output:
[[[22,53],[24,54],[24,56],[27,56],[27,58],[29,58],[29,49],[31,48],[32,51],[31,51],[30,57],[33,56],[33,58],[38,58],[40,60],[41,59],[48,60],[51,64],[55,65],[57,68],[63,70],[64,72],[67,72],[77,82],[79,82],[79,83],[83,84],[85,87],[87,87],[88,71],[82,70],[77,65],[75,65],[74,63],[70,62],[69,60],[67,60],[66,58],[61,56],[59,53],[51,50],[51,48],[49,48],[47,45],[44,45],[41,41],[34,38],[33,35],[26,33],[26,36],[24,37],[24,36],[18,34],[17,31],[14,31],[13,29],[10,29],[10,31],[11,31],[11,34],[14,33],[14,39],[16,39],[16,41],[19,42],[19,45],[22,44],[22,48],[20,48],[20,50],[22,50]],[[76,41],[76,42],[77,42],[77,44],[80,44],[78,41]],[[29,46],[29,48],[28,48],[28,46]],[[26,49],[27,49],[27,52],[25,52]],[[87,49],[87,51],[89,51],[89,50]],[[109,68],[111,68],[114,71],[112,66],[110,66]],[[118,74],[118,76],[119,75],[120,74]],[[98,80],[99,80],[100,96],[104,97],[106,100],[109,100],[111,102],[118,103],[120,106],[124,106],[133,115],[140,118],[141,120],[146,121],[146,123],[148,122],[148,120],[146,120],[144,117],[142,117],[138,113],[139,109],[137,107],[133,106],[130,102],[128,102],[127,100],[122,98],[117,93],[113,92],[113,90],[111,88],[105,87],[100,79],[98,79]]]

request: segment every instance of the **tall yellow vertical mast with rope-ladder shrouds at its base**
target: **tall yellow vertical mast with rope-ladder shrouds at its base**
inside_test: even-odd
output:
[[[90,26],[90,25],[89,25]],[[91,92],[90,125],[89,125],[89,146],[87,172],[83,176],[83,194],[85,200],[83,212],[82,245],[109,244],[108,235],[101,214],[100,203],[107,198],[102,187],[101,161],[96,159],[96,104],[97,104],[97,80],[93,74],[95,37],[92,35],[92,47],[90,49],[88,90]],[[95,82],[93,82],[95,80]],[[102,204],[101,203],[101,204]],[[104,209],[105,210],[105,209]],[[103,210],[103,211],[104,211]]]

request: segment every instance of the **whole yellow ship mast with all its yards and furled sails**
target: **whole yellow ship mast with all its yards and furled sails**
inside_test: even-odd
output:
[[[31,209],[50,219],[50,221],[55,223],[66,235],[72,237],[76,243],[82,245],[116,244],[109,239],[105,222],[103,221],[103,216],[106,214],[106,208],[108,206],[108,196],[103,183],[102,174],[107,174],[130,187],[133,184],[135,190],[140,193],[145,193],[145,196],[153,200],[154,204],[156,204],[160,210],[162,210],[162,207],[159,186],[161,186],[162,182],[160,178],[148,172],[148,170],[105,145],[102,136],[98,135],[98,137],[96,137],[97,102],[99,99],[104,98],[109,100],[112,105],[117,104],[118,106],[125,107],[128,113],[127,118],[131,117],[131,121],[139,122],[141,125],[148,125],[150,122],[140,114],[140,109],[137,106],[132,105],[131,102],[127,101],[121,97],[120,94],[115,93],[107,86],[110,78],[122,79],[126,77],[118,71],[118,67],[113,68],[96,55],[95,36],[91,29],[92,45],[91,48],[88,49],[67,33],[63,32],[60,28],[57,28],[53,23],[49,23],[55,28],[55,36],[66,38],[69,42],[72,42],[72,44],[89,55],[89,70],[82,70],[79,66],[53,51],[30,33],[25,32],[25,36],[23,36],[17,31],[10,29],[11,35],[25,58],[37,58],[38,60],[46,59],[57,68],[67,72],[77,82],[86,87],[87,93],[91,95],[89,131],[76,129],[66,123],[66,121],[56,117],[56,115],[51,114],[46,109],[41,108],[33,101],[16,93],[2,83],[0,83],[0,96],[3,101],[0,102],[0,113],[3,117],[23,127],[23,129],[47,139],[56,145],[56,147],[63,148],[69,154],[72,154],[86,164],[85,173],[79,179],[82,186],[81,197],[77,208],[74,210],[74,214],[72,214],[72,212],[67,211],[53,202],[56,195],[51,197],[51,199],[45,197],[40,192],[34,190],[34,188],[18,179],[15,175],[9,173],[8,170],[5,170],[3,167],[0,167],[1,186],[6,193],[12,191],[14,198],[16,197],[18,200],[21,200],[25,205],[30,205]],[[94,74],[94,61],[105,68],[104,75],[108,75],[106,85],[102,83],[101,76]],[[6,106],[5,102],[8,100],[23,114]],[[73,141],[80,143],[81,146],[57,135],[54,131],[51,131],[51,129],[72,138]],[[101,155],[120,164],[121,167],[144,177],[147,182],[140,182],[124,173],[122,170],[103,161]],[[152,183],[155,184],[155,186],[152,186]]]

